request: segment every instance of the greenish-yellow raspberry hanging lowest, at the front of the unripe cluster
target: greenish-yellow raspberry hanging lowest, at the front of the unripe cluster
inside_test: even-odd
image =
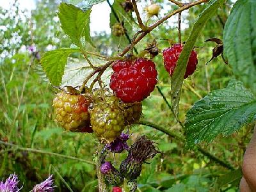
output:
[[[118,106],[102,102],[92,106],[89,112],[93,132],[99,140],[109,143],[124,130],[124,115]]]

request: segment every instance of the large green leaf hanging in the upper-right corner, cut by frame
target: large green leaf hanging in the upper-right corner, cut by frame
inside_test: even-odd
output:
[[[223,48],[237,79],[256,93],[256,1],[238,0],[223,31]]]

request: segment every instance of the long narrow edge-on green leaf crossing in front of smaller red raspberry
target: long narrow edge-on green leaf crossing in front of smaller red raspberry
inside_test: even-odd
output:
[[[177,67],[172,75],[172,106],[175,115],[179,115],[179,100],[180,100],[180,90],[182,87],[184,74],[186,67],[188,65],[189,56],[193,50],[196,39],[200,35],[201,31],[204,29],[207,21],[214,16],[224,0],[212,0],[207,4],[205,10],[200,14],[198,20],[196,20],[195,25],[189,35],[186,44],[184,45],[182,52],[180,53],[179,60],[177,61]]]

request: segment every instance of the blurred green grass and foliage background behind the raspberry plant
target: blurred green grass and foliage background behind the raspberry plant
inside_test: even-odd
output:
[[[52,173],[57,186],[55,191],[97,191],[93,163],[97,139],[87,133],[63,132],[63,129],[53,122],[51,102],[55,92],[45,81],[38,60],[45,51],[70,46],[56,16],[60,2],[35,1],[35,10],[31,12],[20,10],[19,2],[10,1],[12,6],[9,10],[0,6],[0,179],[5,179],[15,172],[23,184],[22,191],[29,191]],[[161,15],[177,9],[176,5],[168,1],[157,0],[155,3],[161,4]],[[140,2],[141,7],[147,4],[150,2]],[[221,38],[232,4],[226,1],[218,15],[209,20],[196,42],[199,47],[196,48],[199,62],[195,74],[184,81],[180,100],[181,122],[184,122],[186,112],[196,100],[211,90],[224,88],[233,76],[230,67],[225,65],[220,57],[205,65],[211,59],[214,43],[204,43],[211,37]],[[204,7],[205,5],[195,6],[182,13],[182,40],[186,40]],[[99,17],[104,15],[99,13]],[[113,15],[110,17],[113,20]],[[128,33],[136,31],[138,26],[134,26],[131,18],[128,19],[131,20],[131,25],[127,26]],[[148,23],[156,19],[157,17],[152,17]],[[169,46],[168,41],[163,39],[177,42],[177,22],[177,17],[172,22],[164,22],[136,46],[138,51],[145,49],[148,42],[154,39],[157,40],[160,50]],[[127,45],[120,40],[124,36],[111,36],[113,37],[106,31],[93,33],[96,48],[91,46],[90,49],[110,56]],[[33,46],[34,50],[29,51],[30,46]],[[79,61],[76,54],[72,57]],[[154,62],[159,74],[158,89],[143,101],[142,120],[182,136],[184,130],[175,121],[172,111],[163,99],[165,95],[166,100],[171,102],[170,77],[164,69],[162,55],[156,56]],[[77,70],[77,73],[80,72]],[[172,138],[147,125],[132,127],[133,134],[129,144],[133,143],[137,136],[145,134],[156,141],[159,150],[163,152],[161,156],[150,161],[150,164],[143,165],[143,172],[138,179],[138,190],[237,191],[241,178],[239,166],[252,132],[252,127],[249,128],[251,129],[241,129],[228,138],[218,136],[209,145],[200,144],[207,152],[232,164],[234,170],[230,170],[196,150],[184,151],[182,140]],[[125,155],[121,155],[115,158],[118,162],[119,158],[124,157]]]

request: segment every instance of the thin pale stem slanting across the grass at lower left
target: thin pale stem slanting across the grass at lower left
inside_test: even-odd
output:
[[[60,157],[60,158],[64,158],[64,159],[72,159],[74,161],[81,161],[83,163],[95,164],[92,161],[87,161],[87,160],[80,159],[80,158],[77,158],[77,157],[65,156],[65,155],[62,155],[62,154],[47,152],[45,150],[39,150],[39,149],[35,149],[35,148],[19,147],[19,145],[15,145],[15,144],[12,144],[12,143],[7,143],[7,142],[4,142],[4,141],[0,141],[0,144],[6,145],[6,146],[9,146],[9,147],[13,147],[13,150],[24,150],[24,151],[28,151],[28,152],[32,152],[32,153],[45,154],[45,155]]]

